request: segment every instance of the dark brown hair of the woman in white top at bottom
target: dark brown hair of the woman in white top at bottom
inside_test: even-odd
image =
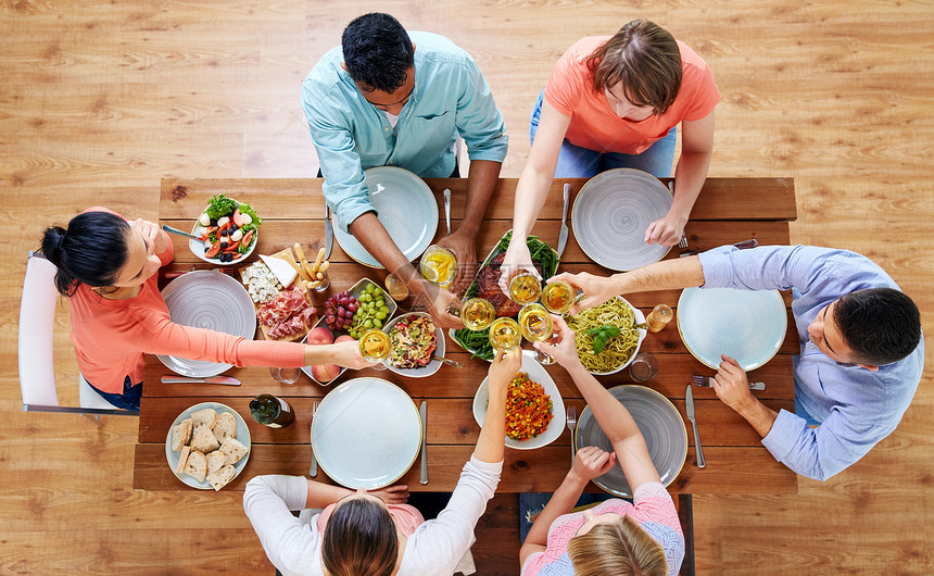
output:
[[[389,511],[368,498],[336,506],[325,526],[321,562],[330,576],[390,576],[399,537]]]

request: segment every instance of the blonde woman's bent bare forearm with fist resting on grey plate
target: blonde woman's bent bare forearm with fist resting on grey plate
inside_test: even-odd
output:
[[[595,446],[588,446],[578,450],[571,469],[565,476],[561,485],[552,494],[545,509],[539,513],[522,548],[519,549],[519,565],[525,565],[526,560],[535,552],[544,552],[548,544],[548,528],[552,523],[571,512],[578,499],[583,493],[588,483],[593,478],[606,474],[616,465],[616,455],[613,452],[604,452]]]

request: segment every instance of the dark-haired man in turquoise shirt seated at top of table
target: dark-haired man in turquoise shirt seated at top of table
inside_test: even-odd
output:
[[[437,324],[462,327],[447,312],[459,308],[457,298],[422,280],[377,218],[363,171],[399,166],[426,178],[455,176],[460,135],[470,158],[466,212],[439,243],[457,258],[454,286],[466,285],[507,147],[503,115],[474,59],[443,36],[409,36],[389,14],[366,14],[305,78],[302,107],[338,225],[416,298],[427,298]]]

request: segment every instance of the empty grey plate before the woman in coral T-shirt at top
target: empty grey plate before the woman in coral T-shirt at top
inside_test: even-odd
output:
[[[575,199],[571,227],[581,250],[597,264],[630,271],[658,262],[670,250],[645,243],[645,229],[665,216],[671,192],[652,174],[614,168],[597,174]]]

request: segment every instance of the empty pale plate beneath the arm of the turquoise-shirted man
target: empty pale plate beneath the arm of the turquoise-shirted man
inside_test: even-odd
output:
[[[386,231],[409,261],[425,251],[438,229],[438,202],[425,180],[394,166],[377,166],[364,172],[369,201]],[[352,234],[338,226],[332,216],[335,238],[353,260],[371,268],[382,268]]]

